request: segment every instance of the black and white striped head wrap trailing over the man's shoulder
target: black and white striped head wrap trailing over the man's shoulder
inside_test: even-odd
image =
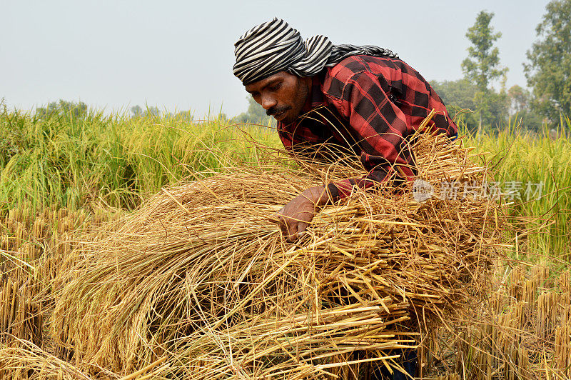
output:
[[[234,75],[246,86],[280,71],[298,76],[313,76],[324,67],[335,66],[348,56],[388,56],[388,49],[373,45],[333,45],[325,36],[303,41],[299,32],[282,19],[254,26],[234,44]]]

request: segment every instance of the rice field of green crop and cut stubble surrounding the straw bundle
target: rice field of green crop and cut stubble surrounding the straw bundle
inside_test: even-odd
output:
[[[571,144],[564,132],[570,129],[569,120],[566,123],[555,135],[533,136],[507,128],[497,136],[463,139],[466,147],[481,154],[476,161],[495,168],[493,181],[501,188],[505,220],[512,228],[503,236],[505,258],[492,265],[493,276],[485,288],[487,297],[477,306],[478,318],[455,316],[423,337],[419,354],[423,376],[428,376],[425,379],[571,376],[571,279],[567,264]],[[34,114],[5,111],[0,114],[0,131],[0,378],[168,378],[161,377],[168,373],[167,366],[172,366],[165,361],[166,356],[129,356],[124,351],[116,352],[121,359],[113,361],[109,355],[115,343],[105,341],[104,331],[94,330],[87,319],[79,318],[84,312],[81,308],[71,313],[58,304],[56,294],[81,276],[81,267],[96,262],[96,256],[86,261],[70,260],[72,252],[79,252],[78,242],[85,241],[86,234],[104,234],[125,221],[136,221],[132,218],[138,214],[133,210],[146,204],[153,194],[169,194],[180,181],[206,181],[240,168],[297,170],[279,150],[281,143],[275,131],[265,126],[236,126],[223,119],[131,119],[97,111],[82,119],[70,115],[37,119]],[[265,186],[279,181],[274,179]],[[526,193],[528,184],[534,185],[534,193]],[[542,184],[541,194],[537,194],[537,184]],[[238,191],[241,186],[256,189],[256,184],[246,180],[233,187]],[[286,195],[281,197],[286,199]],[[172,199],[178,198],[168,199],[174,202]],[[266,232],[271,233],[269,229]],[[215,241],[213,238],[211,244]],[[343,251],[347,253],[341,247],[339,252]],[[89,257],[89,252],[82,255]],[[136,289],[131,288],[133,294]],[[81,293],[78,295],[77,306],[81,306]],[[101,296],[103,305],[108,301],[104,292]],[[97,303],[90,305],[97,307]],[[113,316],[109,320],[119,319]],[[95,322],[90,323],[98,326]],[[58,323],[60,327],[55,329]],[[176,319],[168,321],[177,323]],[[166,325],[157,326],[166,329]],[[97,353],[94,347],[86,350],[94,353],[90,362],[106,362],[107,366],[86,369],[79,366],[81,358],[74,356],[71,346],[61,349],[65,342],[81,341],[78,337],[83,334],[99,336],[94,342],[110,344],[108,351]],[[51,343],[56,338],[61,341],[59,349]],[[143,340],[141,344],[151,343]],[[85,344],[94,343],[87,339]],[[123,347],[128,347],[127,342]],[[107,356],[109,361],[101,361]],[[203,368],[213,365],[205,360]],[[121,365],[113,364],[126,362],[133,369],[122,371]],[[322,365],[330,366],[323,367],[328,369],[335,367],[333,363]],[[279,365],[285,368],[285,364]],[[336,375],[351,378],[347,373]]]

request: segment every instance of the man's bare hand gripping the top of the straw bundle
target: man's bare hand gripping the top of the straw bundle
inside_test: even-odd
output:
[[[305,234],[305,229],[315,216],[317,206],[329,201],[325,186],[311,187],[296,196],[278,211],[280,229],[285,241],[292,242]]]

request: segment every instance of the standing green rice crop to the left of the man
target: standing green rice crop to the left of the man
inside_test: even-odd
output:
[[[141,196],[196,172],[256,161],[278,142],[264,126],[229,126],[218,117],[135,117],[87,111],[0,113],[0,209],[23,201],[76,209],[92,201],[131,209]]]

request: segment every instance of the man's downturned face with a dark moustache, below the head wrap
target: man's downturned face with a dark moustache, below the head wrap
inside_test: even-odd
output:
[[[301,113],[303,104],[308,99],[309,77],[300,78],[285,71],[268,76],[261,81],[248,84],[246,91],[263,106],[266,114],[277,121],[289,124]]]

